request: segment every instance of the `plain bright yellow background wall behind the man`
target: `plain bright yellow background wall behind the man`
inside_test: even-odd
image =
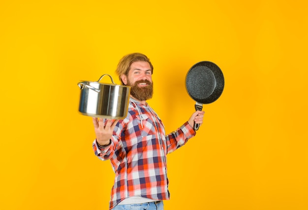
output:
[[[0,209],[108,209],[114,175],[92,152],[77,82],[119,83],[118,61],[141,52],[168,133],[194,111],[189,68],[212,61],[225,76],[197,136],[168,155],[165,210],[307,210],[307,12],[303,0],[2,0]]]

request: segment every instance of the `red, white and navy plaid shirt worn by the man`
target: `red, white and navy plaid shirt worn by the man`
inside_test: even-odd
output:
[[[110,159],[115,172],[110,209],[132,196],[169,200],[166,155],[195,134],[185,122],[175,132],[165,135],[154,110],[148,104],[130,99],[128,114],[116,125],[111,144],[99,147],[94,140],[92,145],[99,159]]]

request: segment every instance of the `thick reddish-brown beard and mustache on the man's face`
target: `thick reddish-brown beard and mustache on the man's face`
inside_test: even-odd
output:
[[[139,83],[147,83],[148,85],[145,87],[139,87]],[[127,80],[127,85],[131,86],[130,95],[139,101],[146,101],[151,99],[153,96],[153,82],[151,83],[147,79],[136,81],[134,84],[131,84],[130,81]]]

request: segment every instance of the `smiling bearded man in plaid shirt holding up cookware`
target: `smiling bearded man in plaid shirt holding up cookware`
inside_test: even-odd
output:
[[[146,102],[153,96],[153,66],[141,53],[124,56],[117,67],[123,85],[131,86],[128,113],[123,120],[93,118],[95,155],[110,160],[115,172],[110,210],[163,210],[169,200],[166,155],[196,135],[204,111],[166,135],[158,115]]]

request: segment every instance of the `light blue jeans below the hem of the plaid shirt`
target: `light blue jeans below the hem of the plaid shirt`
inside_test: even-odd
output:
[[[156,201],[144,204],[117,205],[112,210],[164,210],[164,204],[162,201]]]

